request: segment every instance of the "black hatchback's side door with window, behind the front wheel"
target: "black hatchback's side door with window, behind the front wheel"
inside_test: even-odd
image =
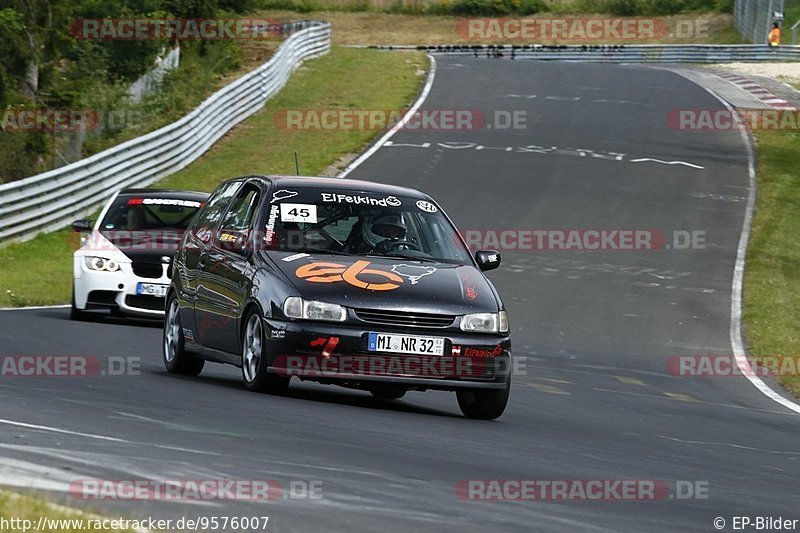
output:
[[[253,278],[253,223],[263,198],[258,183],[245,183],[200,253],[197,331],[200,342],[209,348],[239,351],[237,325]]]

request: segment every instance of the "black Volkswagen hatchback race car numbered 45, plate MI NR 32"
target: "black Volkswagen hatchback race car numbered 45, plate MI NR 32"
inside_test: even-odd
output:
[[[508,318],[437,203],[402,187],[336,178],[227,181],[187,229],[167,293],[169,372],[206,360],[242,368],[248,389],[292,377],[370,391],[455,391],[493,419],[511,388]]]

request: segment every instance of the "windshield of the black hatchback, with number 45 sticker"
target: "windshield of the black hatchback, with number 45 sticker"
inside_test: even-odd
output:
[[[270,250],[470,264],[455,228],[431,202],[370,192],[278,190],[267,204]]]

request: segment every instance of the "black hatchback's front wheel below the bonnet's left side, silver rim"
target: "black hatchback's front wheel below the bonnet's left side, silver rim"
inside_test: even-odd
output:
[[[268,394],[285,394],[291,377],[267,372],[269,354],[264,336],[264,323],[257,308],[245,315],[242,327],[242,379],[247,390]]]

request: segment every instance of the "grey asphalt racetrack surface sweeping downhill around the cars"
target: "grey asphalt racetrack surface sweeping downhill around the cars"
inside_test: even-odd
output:
[[[503,251],[489,277],[509,310],[518,368],[499,420],[462,418],[442,392],[378,401],[294,383],[286,397],[252,394],[234,367],[166,374],[158,325],[6,311],[2,356],[141,358],[141,373],[0,380],[0,482],[112,516],[267,515],[270,531],[714,531],[717,517],[730,531],[734,516],[800,518],[798,415],[743,377],[668,370],[676,356],[733,353],[747,146],[738,132],[667,124],[672,110],[719,108],[667,70],[440,57],[422,109],[480,110],[492,126],[524,111],[525,127],[398,131],[350,174],[419,188],[476,235],[665,236],[658,250]],[[674,232],[704,245],[675,249]],[[319,483],[322,497],[70,497],[70,483],[86,478],[299,480]],[[464,480],[622,479],[659,480],[668,494],[456,492]]]

